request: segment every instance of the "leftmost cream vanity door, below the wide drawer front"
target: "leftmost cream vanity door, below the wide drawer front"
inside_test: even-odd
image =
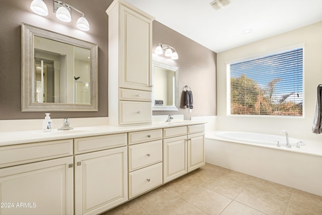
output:
[[[0,214],[73,214],[73,158],[0,169]]]

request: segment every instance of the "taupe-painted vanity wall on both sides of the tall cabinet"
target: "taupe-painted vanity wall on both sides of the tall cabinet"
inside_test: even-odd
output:
[[[112,0],[79,1],[65,0],[85,13],[90,31],[83,32],[75,27],[79,14],[72,11],[71,23],[62,23],[53,13],[53,1],[44,0],[49,11],[41,17],[30,10],[32,0],[1,0],[0,5],[0,120],[43,118],[44,112],[21,112],[21,23],[38,26],[71,37],[87,40],[99,47],[99,111],[98,112],[51,112],[52,118],[63,117],[106,117],[108,116],[108,16],[105,10]],[[190,116],[215,115],[216,53],[189,40],[170,28],[153,22],[153,47],[157,42],[168,43],[177,48],[180,59],[180,90],[190,85],[195,99],[191,114],[181,109],[185,118]],[[154,51],[154,50],[153,50]],[[181,94],[180,94],[181,95]],[[173,112],[173,114],[177,114]],[[168,114],[159,112],[153,114]]]

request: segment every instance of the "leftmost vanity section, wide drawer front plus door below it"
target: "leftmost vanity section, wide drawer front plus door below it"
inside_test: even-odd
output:
[[[73,214],[72,142],[0,147],[0,214]]]

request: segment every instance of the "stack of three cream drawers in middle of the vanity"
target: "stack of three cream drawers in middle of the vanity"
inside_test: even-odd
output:
[[[129,132],[128,139],[129,198],[133,198],[163,183],[162,129]]]

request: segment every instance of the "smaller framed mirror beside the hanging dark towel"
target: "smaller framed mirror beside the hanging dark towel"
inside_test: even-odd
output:
[[[152,80],[152,110],[179,110],[179,67],[152,61]]]

